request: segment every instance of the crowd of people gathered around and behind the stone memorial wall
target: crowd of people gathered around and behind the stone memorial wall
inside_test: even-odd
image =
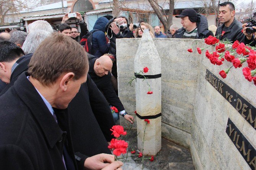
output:
[[[180,15],[183,27],[128,23],[125,16],[97,19],[89,32],[76,13],[81,32],[62,19],[58,32],[47,21],[28,25],[28,33],[0,34],[0,167],[5,169],[121,170],[108,143],[120,115],[130,123],[118,98],[116,39],[206,38],[255,46],[254,34],[235,19],[231,2],[220,4],[221,26],[208,29],[206,17],[193,9]],[[256,29],[256,27],[252,27]],[[115,106],[118,112],[110,107]]]

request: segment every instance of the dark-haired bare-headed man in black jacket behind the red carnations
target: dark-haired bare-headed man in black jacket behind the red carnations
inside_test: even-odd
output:
[[[230,42],[245,41],[245,35],[242,31],[242,23],[235,19],[235,6],[231,2],[220,3],[219,20],[222,23],[216,30],[215,36],[219,40],[228,40]]]

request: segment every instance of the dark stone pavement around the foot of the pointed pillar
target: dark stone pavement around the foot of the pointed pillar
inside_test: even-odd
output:
[[[128,157],[128,161],[120,159],[124,163],[122,167],[123,170],[142,169],[142,160],[136,160],[141,159],[138,158],[139,151],[137,150],[136,135],[136,130],[131,130],[128,134],[128,138],[126,141],[130,143],[128,146],[128,156],[137,156]],[[123,140],[125,139],[126,136],[124,136]],[[132,149],[136,151],[135,154],[130,153]],[[122,155],[119,157],[122,157]],[[155,160],[153,162],[150,162],[149,159],[144,159],[143,170],[194,170],[194,165],[190,151],[188,149],[178,146],[177,144],[174,144],[162,138],[161,151],[155,156]]]

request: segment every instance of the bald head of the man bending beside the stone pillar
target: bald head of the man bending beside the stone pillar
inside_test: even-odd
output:
[[[113,63],[109,56],[103,55],[100,58],[96,59],[94,63],[94,72],[97,76],[103,77],[104,75],[109,74],[112,66]]]

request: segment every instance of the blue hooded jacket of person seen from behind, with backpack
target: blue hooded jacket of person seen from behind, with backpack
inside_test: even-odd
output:
[[[109,44],[107,42],[106,36],[105,36],[105,26],[109,22],[109,20],[105,17],[100,17],[97,19],[97,21],[94,24],[93,29],[90,31],[97,30],[92,33],[92,51],[94,53],[92,55],[96,57],[100,57],[104,55],[105,53],[109,52]]]

